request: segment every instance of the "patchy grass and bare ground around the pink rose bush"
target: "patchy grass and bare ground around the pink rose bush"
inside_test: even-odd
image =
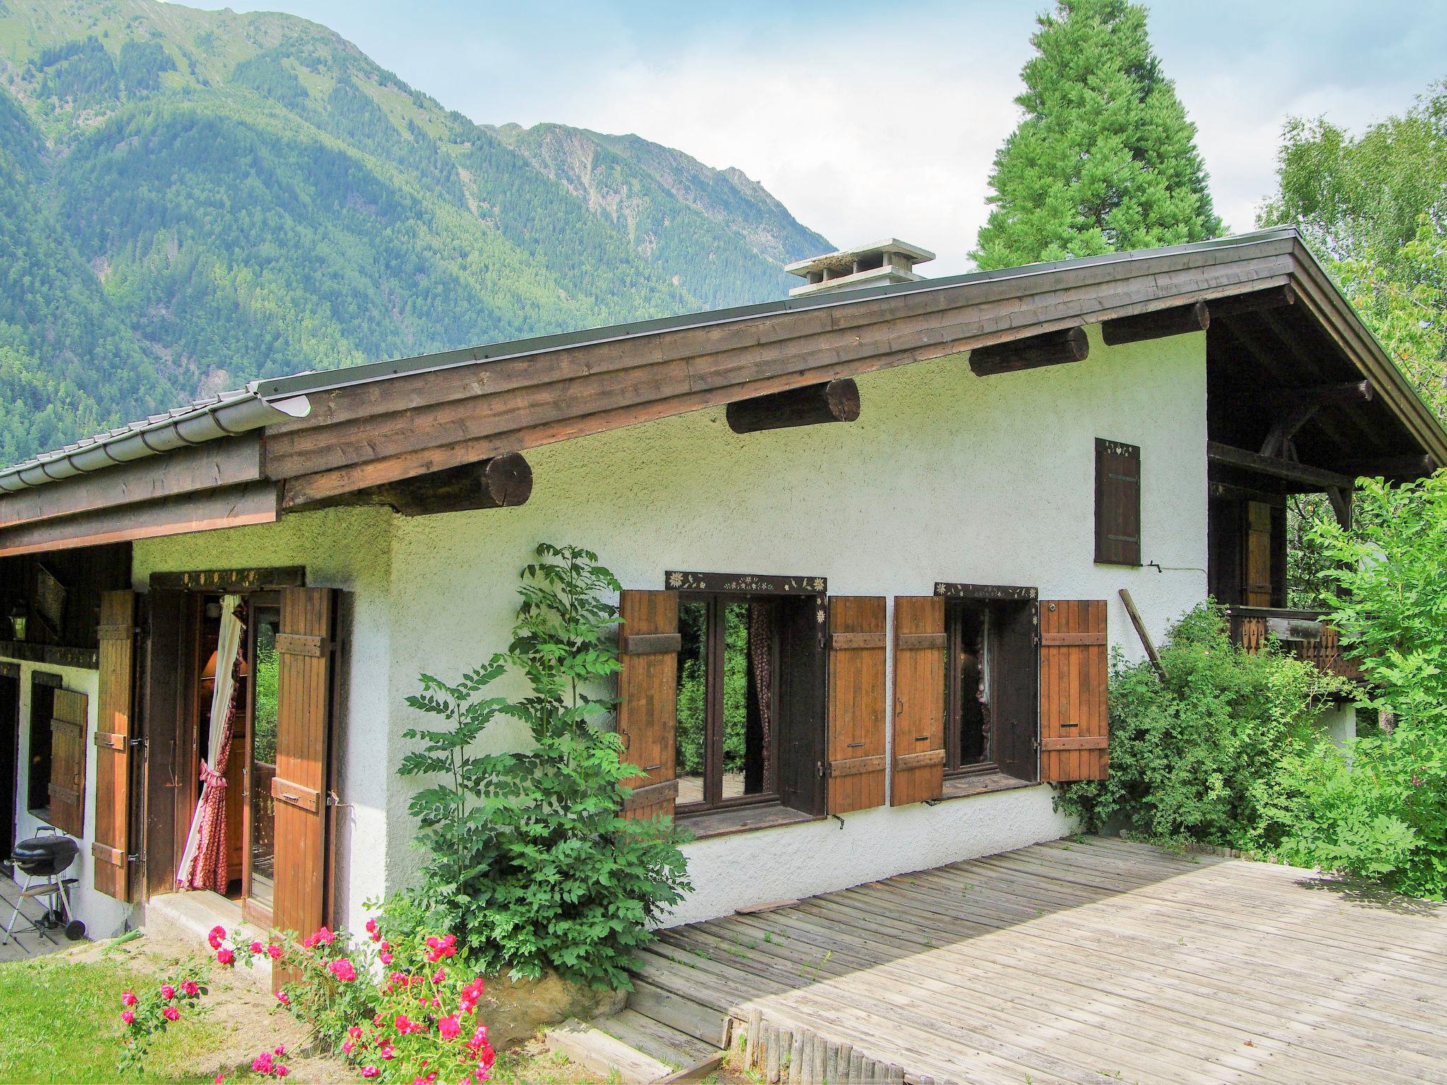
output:
[[[120,994],[159,982],[162,958],[145,939],[84,945],[67,953],[0,965],[0,1085],[12,1082],[114,1082]],[[252,1058],[284,1043],[288,1085],[360,1082],[355,1068],[307,1052],[302,1026],[234,972],[213,972],[210,1011],[185,1017],[158,1037],[140,1082],[262,1081]],[[598,1085],[587,1071],[530,1043],[499,1055],[492,1073],[502,1085]]]

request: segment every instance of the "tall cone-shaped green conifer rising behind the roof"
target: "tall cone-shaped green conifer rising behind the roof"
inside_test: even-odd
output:
[[[1059,0],[1022,72],[1024,119],[996,153],[981,268],[1200,242],[1221,231],[1195,124],[1160,72],[1146,9]]]

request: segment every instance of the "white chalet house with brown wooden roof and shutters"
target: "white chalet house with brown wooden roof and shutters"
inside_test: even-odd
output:
[[[1447,433],[1295,231],[928,256],[259,380],[0,472],[0,846],[78,838],[97,936],[179,884],[357,926],[420,858],[404,697],[506,647],[540,541],[625,586],[631,809],[697,838],[679,922],[1069,832],[1051,784],[1108,771],[1108,651],[1143,650],[1121,589],[1150,638],[1211,595],[1346,665],[1285,609],[1288,495],[1347,518]]]

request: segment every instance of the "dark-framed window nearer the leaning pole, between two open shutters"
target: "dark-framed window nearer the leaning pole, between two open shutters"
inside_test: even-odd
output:
[[[1033,587],[936,584],[945,595],[945,774],[1035,780]]]

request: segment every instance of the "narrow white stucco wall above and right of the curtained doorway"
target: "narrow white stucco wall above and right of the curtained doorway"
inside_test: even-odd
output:
[[[349,676],[340,742],[339,914],[353,929],[362,901],[386,882],[388,788],[401,742],[391,728],[401,697],[388,689],[391,619],[389,511],[339,508],[287,516],[278,524],[146,540],[135,544],[132,576],[145,590],[152,573],[201,569],[305,566],[313,587],[352,593]]]

